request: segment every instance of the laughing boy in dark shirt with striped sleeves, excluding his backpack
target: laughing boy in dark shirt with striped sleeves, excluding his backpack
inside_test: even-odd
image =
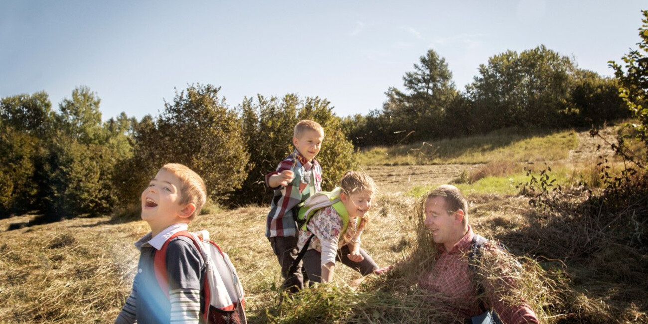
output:
[[[190,238],[177,235],[207,199],[203,180],[190,168],[168,163],[142,192],[142,219],[151,231],[135,242],[140,250],[133,290],[115,323],[199,323],[205,262]],[[156,278],[156,252],[168,242],[168,291]]]

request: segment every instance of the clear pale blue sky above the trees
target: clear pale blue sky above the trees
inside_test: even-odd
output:
[[[623,4],[623,5],[621,5]],[[89,86],[103,118],[157,115],[187,84],[327,98],[341,116],[380,109],[428,49],[459,90],[480,64],[544,44],[579,67],[636,48],[645,1],[2,1],[0,97]]]

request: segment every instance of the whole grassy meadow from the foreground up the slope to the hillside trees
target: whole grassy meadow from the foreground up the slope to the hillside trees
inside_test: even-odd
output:
[[[607,128],[607,135],[616,132]],[[393,168],[381,172],[413,165],[467,165],[453,168],[450,182],[467,194],[474,230],[501,240],[518,256],[525,270],[520,293],[542,323],[646,323],[646,256],[623,246],[596,251],[586,246],[592,248],[591,257],[564,257],[575,254],[558,250],[581,246],[575,242],[581,235],[570,233],[581,228],[570,227],[580,220],[531,209],[529,198],[520,194],[529,181],[525,168],[535,176],[551,168],[553,185],[596,185],[598,156],[610,152],[597,152],[588,141],[588,135],[573,130],[500,132],[371,148],[359,157],[376,179],[380,174],[371,173],[372,165]],[[608,157],[614,170],[619,162]],[[419,181],[404,183],[398,193],[377,194],[362,239],[379,266],[399,265],[386,275],[362,278],[338,264],[334,283],[292,298],[282,298],[278,289],[279,265],[264,236],[267,205],[211,207],[190,229],[207,229],[229,253],[246,290],[249,323],[447,323],[447,314],[435,309],[430,296],[413,283],[421,267],[429,266],[432,253],[430,238],[421,228],[420,198],[448,181],[413,176]],[[34,217],[0,220],[0,323],[111,323],[130,292],[138,257],[133,242],[148,231],[146,223],[105,216],[30,226]],[[555,257],[547,257],[551,255]]]

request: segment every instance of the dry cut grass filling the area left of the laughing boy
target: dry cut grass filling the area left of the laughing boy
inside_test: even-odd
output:
[[[29,216],[2,220],[23,220]],[[128,294],[142,226],[77,219],[1,233],[2,323],[104,323]],[[133,248],[134,249],[134,248]]]

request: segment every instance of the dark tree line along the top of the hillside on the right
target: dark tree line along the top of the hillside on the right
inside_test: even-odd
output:
[[[600,126],[629,117],[617,78],[579,69],[573,58],[540,45],[506,51],[481,64],[465,91],[445,58],[430,49],[390,87],[381,110],[344,120],[356,146],[394,145],[502,128]]]

